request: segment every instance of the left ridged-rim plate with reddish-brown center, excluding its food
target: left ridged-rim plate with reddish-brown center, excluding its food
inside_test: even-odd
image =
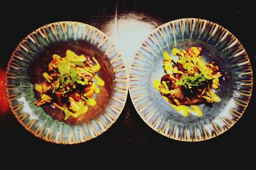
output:
[[[58,109],[35,106],[34,85],[44,79],[52,55],[63,56],[68,49],[94,56],[101,66],[97,74],[106,85],[100,88],[96,106],[65,122]],[[122,56],[108,36],[79,22],[56,22],[29,34],[13,52],[6,71],[6,94],[17,120],[35,136],[60,144],[81,143],[106,131],[124,108],[127,83]]]

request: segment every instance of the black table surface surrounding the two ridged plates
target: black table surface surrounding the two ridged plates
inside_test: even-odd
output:
[[[126,13],[143,14],[158,23],[178,18],[204,18],[232,32],[248,53],[255,74],[255,9],[246,1],[38,1],[6,3],[1,6],[2,69],[13,50],[24,37],[51,22],[72,20],[99,29],[109,20]],[[254,83],[255,84],[255,83]],[[255,87],[254,87],[255,89]],[[255,90],[253,90],[255,92]],[[245,167],[255,159],[255,95],[243,117],[227,132],[198,143],[175,141],[158,134],[143,122],[127,97],[124,111],[108,131],[91,141],[78,145],[56,145],[36,138],[20,125],[12,113],[0,114],[0,165],[7,160],[20,166],[34,162],[47,167],[83,165],[127,169],[139,164],[145,167]],[[203,166],[203,164],[207,164]],[[15,163],[13,163],[15,164]],[[12,165],[12,164],[9,164]],[[255,167],[255,166],[254,166]]]

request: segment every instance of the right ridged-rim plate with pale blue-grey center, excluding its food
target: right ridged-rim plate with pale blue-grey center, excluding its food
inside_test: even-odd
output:
[[[163,52],[202,47],[202,59],[212,60],[223,74],[216,94],[220,103],[200,104],[204,115],[182,117],[152,82],[164,74]],[[252,67],[237,38],[213,22],[198,18],[174,20],[159,26],[134,56],[129,92],[140,117],[155,131],[180,141],[203,141],[227,131],[243,115],[252,94]]]

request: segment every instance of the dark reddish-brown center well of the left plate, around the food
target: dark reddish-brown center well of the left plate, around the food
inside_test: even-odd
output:
[[[69,117],[67,120],[67,124],[71,125],[79,125],[84,122],[89,122],[92,118],[97,117],[102,113],[106,105],[109,103],[109,99],[111,98],[113,92],[113,80],[114,74],[109,62],[109,59],[104,55],[104,53],[97,50],[94,46],[89,45],[83,41],[76,42],[67,42],[67,43],[58,43],[58,45],[50,45],[44,50],[44,52],[38,53],[33,64],[31,64],[31,68],[29,69],[29,74],[31,74],[31,83],[33,85],[42,83],[45,81],[45,78],[42,76],[43,73],[47,72],[48,64],[52,60],[53,54],[58,54],[61,57],[66,56],[66,51],[72,50],[77,55],[88,55],[91,57],[95,57],[100,64],[100,70],[97,75],[104,80],[104,87],[99,87],[99,94],[95,95],[93,98],[96,100],[97,104],[95,106],[88,106],[88,111],[83,115],[80,115],[77,118]],[[40,98],[40,93],[34,90],[36,99]],[[86,104],[87,105],[87,104]],[[58,108],[54,108],[49,104],[44,104],[42,106],[45,113],[50,115],[52,118],[65,122],[65,114]]]

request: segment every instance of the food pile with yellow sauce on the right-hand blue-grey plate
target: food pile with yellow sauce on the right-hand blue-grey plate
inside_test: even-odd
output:
[[[165,74],[153,84],[175,110],[184,117],[191,113],[202,117],[202,111],[194,104],[220,102],[213,90],[220,87],[219,67],[206,64],[200,56],[202,48],[193,46],[187,50],[172,49],[173,60],[168,52],[163,53]],[[190,106],[190,108],[188,107]]]

